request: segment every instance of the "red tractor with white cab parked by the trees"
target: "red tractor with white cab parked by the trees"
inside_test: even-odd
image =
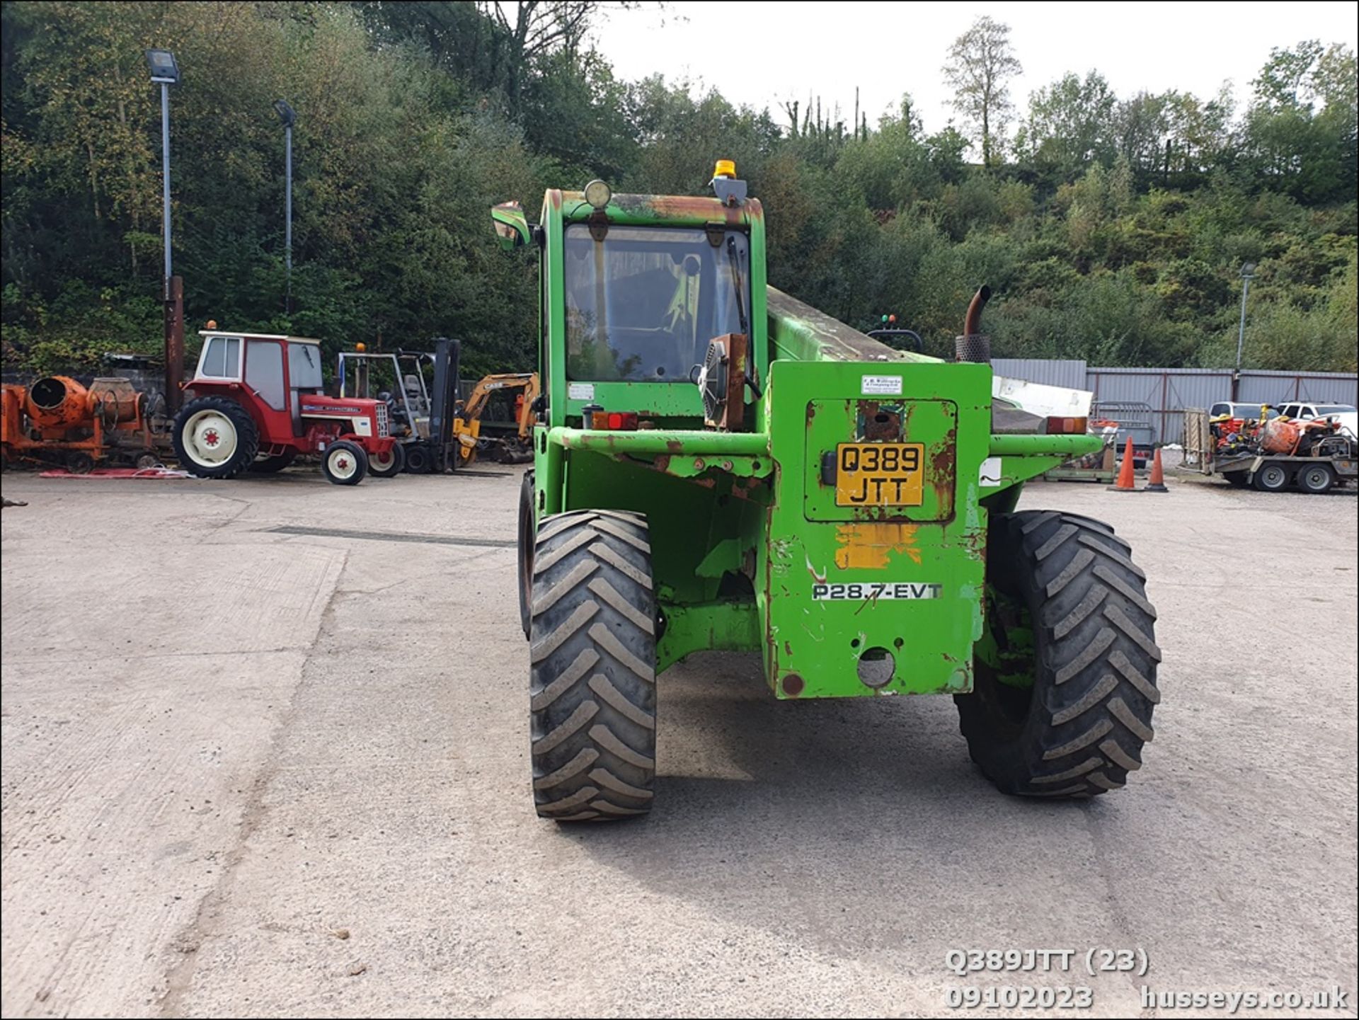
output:
[[[405,466],[387,405],[322,393],[321,345],[302,337],[204,330],[193,394],[174,420],[179,465],[200,478],[281,471],[321,454],[321,473],[357,485]]]

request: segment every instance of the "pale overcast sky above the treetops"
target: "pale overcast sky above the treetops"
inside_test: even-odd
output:
[[[954,115],[940,67],[974,18],[1011,27],[1023,73],[1011,86],[1022,113],[1029,92],[1072,71],[1098,69],[1120,96],[1142,90],[1216,94],[1238,103],[1273,46],[1302,39],[1359,48],[1355,3],[671,3],[610,11],[597,43],[624,79],[689,77],[735,103],[769,106],[819,94],[840,103],[847,126],[853,90],[868,122],[911,92],[935,132]],[[1239,106],[1238,106],[1239,110]]]

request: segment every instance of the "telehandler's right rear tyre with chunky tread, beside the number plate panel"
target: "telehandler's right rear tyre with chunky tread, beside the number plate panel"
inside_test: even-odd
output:
[[[1055,511],[991,519],[987,619],[962,735],[1004,793],[1089,797],[1142,767],[1157,690],[1157,611],[1129,546]]]

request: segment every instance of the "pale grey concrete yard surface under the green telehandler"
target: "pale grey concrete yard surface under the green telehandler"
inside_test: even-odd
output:
[[[559,828],[518,484],[5,475],[5,1016],[998,1015],[946,997],[1002,985],[1093,989],[1026,1016],[1152,1015],[1143,985],[1355,1015],[1352,494],[1026,493],[1150,576],[1125,790],[1008,799],[949,699],[776,704],[711,655],[660,680],[652,816]],[[1074,970],[946,966],[1011,948]],[[1089,978],[1098,948],[1150,971]]]

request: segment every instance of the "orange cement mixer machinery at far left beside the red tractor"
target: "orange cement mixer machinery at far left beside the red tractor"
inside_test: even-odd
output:
[[[84,473],[106,460],[156,463],[154,409],[128,379],[95,379],[86,388],[65,375],[0,391],[0,456],[5,463],[64,463]]]

